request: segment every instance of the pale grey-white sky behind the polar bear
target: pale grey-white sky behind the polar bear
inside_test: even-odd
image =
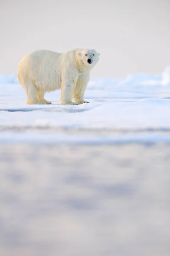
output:
[[[0,0],[0,74],[36,49],[94,48],[91,76],[157,75],[170,65],[170,0]]]

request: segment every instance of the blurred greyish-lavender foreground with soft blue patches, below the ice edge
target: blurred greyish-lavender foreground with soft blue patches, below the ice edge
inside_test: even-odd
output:
[[[0,163],[0,255],[169,255],[169,145],[0,143]]]

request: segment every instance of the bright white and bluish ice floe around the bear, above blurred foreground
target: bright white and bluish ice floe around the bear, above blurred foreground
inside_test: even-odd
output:
[[[47,93],[47,100],[52,101],[52,105],[26,105],[26,95],[20,84],[17,83],[16,76],[0,77],[0,129],[3,136],[0,141],[7,142],[11,138],[11,131],[15,136],[11,141],[23,140],[28,142],[44,141],[45,143],[53,141],[74,142],[73,137],[67,133],[67,136],[61,137],[64,129],[78,130],[75,140],[82,141],[85,137],[79,134],[81,130],[100,130],[105,131],[107,140],[112,136],[113,143],[119,138],[122,140],[139,140],[139,131],[145,133],[140,137],[142,141],[159,140],[160,132],[170,129],[170,68],[167,67],[162,76],[152,77],[146,74],[130,75],[125,80],[121,79],[91,79],[85,92],[85,100],[90,104],[76,106],[60,105],[60,91]],[[17,128],[28,129],[27,133],[19,132]],[[45,136],[42,130],[38,137],[35,129],[48,129]],[[8,130],[10,133],[8,135]],[[107,131],[128,131],[131,134],[127,137],[115,137],[115,134],[109,135]],[[136,137],[134,131],[138,131]],[[148,131],[159,131],[153,137],[148,136]],[[52,132],[52,134],[51,134]],[[6,137],[4,136],[6,133]],[[29,139],[28,139],[29,134]],[[50,136],[49,136],[50,135]],[[81,135],[79,137],[79,135]],[[94,137],[86,134],[86,140],[93,142]],[[104,138],[96,135],[95,141],[103,143]],[[8,137],[9,136],[9,137]],[[166,135],[168,141],[168,135]],[[78,139],[79,138],[79,139]],[[164,137],[165,140],[165,137]]]

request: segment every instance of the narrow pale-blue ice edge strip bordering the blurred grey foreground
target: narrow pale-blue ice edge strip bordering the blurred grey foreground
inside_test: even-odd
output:
[[[128,135],[118,134],[116,136],[108,135],[87,135],[80,134],[77,135],[65,135],[59,134],[54,137],[53,134],[48,134],[47,132],[39,133],[22,133],[20,134],[2,134],[0,135],[0,142],[3,143],[29,143],[29,144],[62,144],[62,145],[121,145],[129,143],[140,143],[144,145],[150,145],[153,143],[170,143],[170,136],[166,134],[133,134]]]

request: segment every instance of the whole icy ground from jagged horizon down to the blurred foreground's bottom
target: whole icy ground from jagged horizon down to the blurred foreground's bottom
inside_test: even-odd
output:
[[[170,68],[59,97],[0,76],[0,256],[169,256]]]

